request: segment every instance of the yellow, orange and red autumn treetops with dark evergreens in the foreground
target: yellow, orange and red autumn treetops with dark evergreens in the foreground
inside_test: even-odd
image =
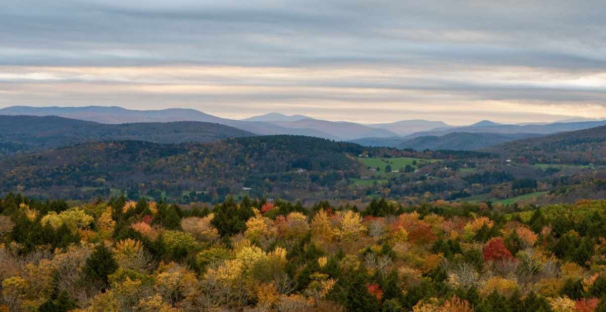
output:
[[[606,311],[606,201],[0,201],[1,311]]]

